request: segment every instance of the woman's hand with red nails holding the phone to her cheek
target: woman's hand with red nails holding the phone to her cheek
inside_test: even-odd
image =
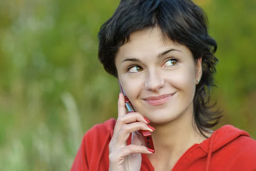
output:
[[[138,112],[126,114],[125,99],[120,93],[118,119],[109,143],[109,171],[140,171],[141,154],[152,154],[152,151],[141,145],[140,139],[134,132],[138,130],[153,132],[152,127],[148,127],[147,124],[143,115]],[[132,133],[131,145],[127,145],[130,133]]]

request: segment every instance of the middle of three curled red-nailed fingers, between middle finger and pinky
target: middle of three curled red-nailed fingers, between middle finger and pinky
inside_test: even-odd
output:
[[[153,132],[154,128],[149,128],[151,126],[143,123],[143,122],[134,122],[134,123],[131,123],[131,124],[127,124],[127,125],[123,125],[121,130],[119,131],[118,135],[116,136],[116,143],[115,143],[115,146],[123,146],[130,133],[133,133],[135,131],[138,131],[138,130],[148,130],[150,132]]]

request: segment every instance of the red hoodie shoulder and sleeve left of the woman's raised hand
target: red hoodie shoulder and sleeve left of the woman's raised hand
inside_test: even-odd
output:
[[[115,119],[96,124],[88,130],[82,139],[80,148],[74,159],[71,171],[107,170],[108,144],[113,136]],[[99,169],[102,164],[102,169]]]

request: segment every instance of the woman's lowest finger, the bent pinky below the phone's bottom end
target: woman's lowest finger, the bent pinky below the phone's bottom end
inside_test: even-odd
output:
[[[116,151],[113,151],[111,154],[109,154],[109,160],[114,161],[123,157],[126,157],[130,154],[152,154],[153,152],[148,151],[148,148],[146,148],[143,145],[127,145],[123,148],[119,148]]]

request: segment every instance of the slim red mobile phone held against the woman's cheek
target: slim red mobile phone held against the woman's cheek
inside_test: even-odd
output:
[[[121,86],[119,81],[118,81],[118,83],[119,83],[121,93],[125,96],[126,110],[128,111],[128,113],[134,112],[134,109],[131,105],[130,100],[125,95],[124,91],[122,90],[122,86]],[[139,131],[136,131],[135,133],[138,136],[138,138],[140,139],[140,142],[142,143],[142,145],[144,145],[147,148],[151,148],[152,150],[154,150],[153,139],[152,139],[152,136],[151,136],[151,133],[150,133],[149,130],[139,130]]]

